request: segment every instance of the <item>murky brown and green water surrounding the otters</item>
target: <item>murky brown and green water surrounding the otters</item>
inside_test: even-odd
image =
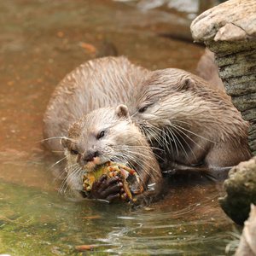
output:
[[[203,52],[188,43],[195,13],[167,10],[167,2],[1,1],[0,253],[72,254],[86,245],[86,255],[225,254],[234,224],[218,205],[221,184],[170,184],[149,209],[72,201],[58,193],[55,160],[38,143],[55,85],[106,42],[143,67],[195,72]]]

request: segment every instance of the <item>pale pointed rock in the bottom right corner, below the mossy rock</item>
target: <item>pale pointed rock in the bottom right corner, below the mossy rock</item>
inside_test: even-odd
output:
[[[256,255],[256,207],[251,205],[250,217],[244,224],[235,256]]]

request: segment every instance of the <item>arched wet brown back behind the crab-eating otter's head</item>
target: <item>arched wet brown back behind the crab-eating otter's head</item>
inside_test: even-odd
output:
[[[70,125],[96,108],[125,103],[147,73],[123,56],[87,61],[68,73],[56,86],[44,113],[45,146],[63,151],[59,140],[50,138],[66,136]]]

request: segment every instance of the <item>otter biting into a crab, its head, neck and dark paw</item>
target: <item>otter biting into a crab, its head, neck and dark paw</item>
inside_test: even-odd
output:
[[[136,195],[133,203],[148,205],[162,195],[160,166],[140,129],[131,121],[125,105],[98,108],[85,115],[71,125],[61,143],[67,156],[65,182],[71,189],[83,189],[81,176],[84,166],[93,170],[108,161],[116,161],[136,170],[143,182],[146,191]],[[106,175],[103,175],[93,183],[88,198],[112,201],[119,197],[122,184],[116,183],[118,180],[118,177],[112,177],[107,181]]]

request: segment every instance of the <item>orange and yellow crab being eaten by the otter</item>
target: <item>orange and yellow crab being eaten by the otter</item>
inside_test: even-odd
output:
[[[136,190],[132,190],[133,194],[143,193],[143,185],[140,177],[137,175],[137,172],[135,172],[128,166],[108,161],[104,165],[97,166],[96,169],[94,169],[93,171],[88,168],[88,166],[84,166],[84,169],[85,172],[82,177],[82,183],[85,195],[90,194],[92,183],[99,179],[102,174],[107,174],[107,179],[119,175],[122,183],[124,184],[125,193],[129,196],[130,200],[132,200],[130,189],[132,183],[138,184],[138,188]]]

